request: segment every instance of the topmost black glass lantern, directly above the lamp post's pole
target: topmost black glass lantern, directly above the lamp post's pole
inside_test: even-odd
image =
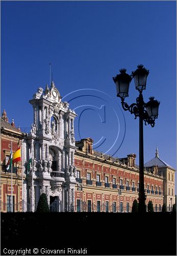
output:
[[[146,80],[149,74],[149,70],[145,69],[142,64],[138,65],[137,68],[137,70],[132,71],[135,88],[138,91],[146,90]]]

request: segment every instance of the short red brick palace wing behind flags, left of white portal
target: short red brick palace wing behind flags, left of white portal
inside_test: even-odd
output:
[[[11,169],[5,166],[9,160],[11,143],[13,153],[21,145],[23,133],[15,127],[14,121],[10,124],[4,110],[1,118],[1,211],[11,211],[11,198],[13,198],[13,211],[22,211],[22,177],[21,162],[13,164]],[[12,180],[12,197],[11,197]]]

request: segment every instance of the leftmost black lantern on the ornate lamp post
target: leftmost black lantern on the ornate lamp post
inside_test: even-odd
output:
[[[113,77],[113,81],[116,85],[117,97],[124,99],[129,97],[129,86],[132,77],[126,73],[126,69],[120,69],[120,74]]]

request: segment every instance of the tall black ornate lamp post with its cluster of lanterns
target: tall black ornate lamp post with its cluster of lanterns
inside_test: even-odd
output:
[[[144,153],[143,153],[143,120],[155,126],[155,119],[158,118],[160,102],[150,97],[147,103],[143,100],[142,91],[146,89],[146,80],[149,70],[143,65],[138,65],[138,69],[132,72],[131,75],[126,73],[126,69],[121,69],[120,74],[113,77],[116,85],[117,97],[121,98],[121,104],[124,111],[129,111],[135,115],[135,119],[139,117],[139,204],[138,211],[145,212],[145,193],[144,193]],[[139,91],[139,96],[136,98],[136,103],[130,106],[124,102],[125,97],[129,97],[130,82],[134,78],[135,88]]]

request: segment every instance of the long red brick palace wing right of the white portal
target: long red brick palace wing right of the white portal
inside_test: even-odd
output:
[[[77,141],[75,167],[78,184],[75,188],[75,211],[128,212],[138,199],[139,169],[136,155],[113,158],[93,151],[90,138]],[[162,208],[164,177],[157,166],[145,168],[144,187],[146,204],[153,202],[154,209]]]

